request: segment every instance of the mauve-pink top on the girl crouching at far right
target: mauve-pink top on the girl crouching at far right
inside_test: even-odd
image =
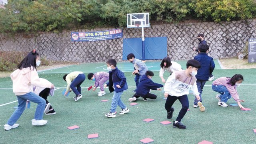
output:
[[[212,84],[213,85],[224,85],[228,89],[228,92],[233,97],[233,99],[236,102],[238,102],[240,100],[238,97],[238,92],[236,91],[236,85],[234,85],[234,86],[228,85],[227,83],[229,80],[230,80],[230,78],[228,78],[228,77],[220,77],[220,78],[216,79],[215,81],[213,81]]]

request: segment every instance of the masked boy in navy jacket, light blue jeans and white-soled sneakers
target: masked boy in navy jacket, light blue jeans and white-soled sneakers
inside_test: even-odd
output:
[[[105,114],[105,116],[114,118],[116,117],[117,105],[122,108],[119,114],[125,114],[130,111],[121,100],[121,95],[124,90],[128,89],[128,85],[126,83],[126,77],[124,76],[124,73],[116,67],[116,60],[108,59],[106,63],[109,71],[108,89],[110,93],[114,91],[114,95],[112,97],[110,112]]]

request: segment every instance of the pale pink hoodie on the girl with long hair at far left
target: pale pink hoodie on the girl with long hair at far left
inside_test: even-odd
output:
[[[31,68],[31,69],[30,69]],[[12,90],[15,95],[25,95],[33,92],[33,85],[36,87],[51,88],[51,83],[41,83],[36,69],[33,67],[26,67],[17,69],[11,74]]]

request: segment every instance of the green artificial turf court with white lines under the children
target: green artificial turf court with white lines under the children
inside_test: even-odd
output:
[[[177,61],[185,69],[186,61]],[[8,118],[14,112],[14,107],[18,105],[16,96],[12,92],[12,81],[10,77],[0,78],[0,144],[140,144],[143,138],[152,138],[152,144],[197,144],[202,140],[214,142],[214,144],[254,144],[256,134],[256,69],[234,69],[223,70],[215,61],[216,69],[213,72],[215,79],[218,77],[232,77],[234,74],[242,74],[244,82],[238,87],[240,99],[244,107],[251,108],[250,111],[242,111],[239,107],[228,106],[226,108],[217,105],[217,94],[211,89],[212,81],[208,81],[202,93],[203,105],[206,112],[200,112],[199,108],[193,108],[194,96],[188,95],[190,111],[182,119],[182,124],[186,125],[185,130],[173,128],[172,124],[162,125],[160,122],[168,120],[164,108],[164,93],[161,91],[151,91],[158,96],[156,100],[148,99],[147,102],[139,98],[130,106],[128,99],[134,95],[135,89],[134,75],[132,75],[133,65],[131,63],[118,63],[117,67],[124,72],[129,89],[122,94],[122,101],[130,109],[126,114],[117,114],[115,118],[104,116],[111,106],[113,93],[106,90],[106,95],[98,97],[95,92],[86,88],[94,82],[87,78],[82,84],[82,99],[75,102],[71,93],[69,97],[64,97],[62,91],[66,87],[66,82],[62,79],[65,73],[71,71],[83,71],[85,75],[89,72],[106,71],[105,63],[81,64],[52,69],[39,72],[39,77],[48,79],[57,88],[54,97],[49,96],[48,101],[56,111],[54,115],[44,115],[48,120],[45,126],[32,126],[31,119],[34,118],[36,104],[31,103],[31,107],[26,109],[20,119],[16,122],[20,124],[18,128],[9,131],[4,130]],[[162,83],[159,78],[159,61],[146,62],[149,70],[154,71],[152,80]],[[167,79],[167,72],[164,77]],[[108,102],[100,102],[108,99]],[[10,103],[4,105],[6,103]],[[228,100],[227,104],[236,103],[234,99]],[[181,109],[179,101],[174,103],[175,108],[173,122]],[[120,107],[116,111],[119,112]],[[153,118],[152,122],[144,122],[143,119]],[[68,130],[67,127],[78,125],[76,130]],[[98,133],[99,137],[88,139],[88,134]]]

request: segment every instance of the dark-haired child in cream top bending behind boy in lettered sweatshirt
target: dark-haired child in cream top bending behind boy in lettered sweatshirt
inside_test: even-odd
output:
[[[182,71],[181,65],[174,61],[171,62],[170,57],[164,57],[164,59],[160,64],[160,67],[161,68],[160,68],[159,76],[161,77],[163,83],[165,83],[164,71],[168,71],[171,74],[175,71]]]

